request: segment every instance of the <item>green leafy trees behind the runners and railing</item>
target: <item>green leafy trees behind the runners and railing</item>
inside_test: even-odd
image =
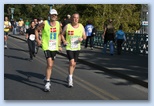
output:
[[[50,6],[47,4],[5,4],[4,15],[11,18],[10,8],[15,8],[14,18],[33,19],[42,17],[48,18]],[[80,14],[80,22],[86,25],[91,20],[98,28],[103,30],[108,19],[112,19],[114,26],[118,29],[123,24],[125,32],[134,32],[140,28],[141,4],[56,4],[59,21],[63,21],[67,14],[74,12]]]

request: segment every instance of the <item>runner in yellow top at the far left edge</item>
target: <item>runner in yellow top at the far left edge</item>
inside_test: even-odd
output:
[[[8,17],[4,18],[4,48],[7,49],[7,40],[8,40],[8,33],[11,28],[11,23],[8,20]]]

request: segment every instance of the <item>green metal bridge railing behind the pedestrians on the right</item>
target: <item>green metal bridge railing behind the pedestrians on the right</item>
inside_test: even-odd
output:
[[[102,31],[98,31],[94,37],[94,47],[103,48],[104,40]],[[85,44],[85,42],[83,42]],[[107,45],[109,49],[109,44]],[[116,50],[115,43],[115,50]],[[148,34],[126,33],[126,42],[122,45],[123,52],[148,55]]]

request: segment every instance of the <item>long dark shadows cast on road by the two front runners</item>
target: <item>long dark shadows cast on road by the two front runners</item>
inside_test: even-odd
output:
[[[35,87],[35,88],[38,88],[44,91],[44,83],[43,83],[44,75],[39,74],[39,73],[34,73],[34,72],[26,72],[22,70],[16,70],[16,71],[22,75],[20,76],[20,75],[15,75],[15,74],[4,74],[5,80],[6,79],[14,80],[14,81],[17,81],[17,82],[20,82],[20,83],[23,83],[23,84],[26,84],[31,87]],[[23,75],[24,77],[22,77]],[[33,78],[41,79],[42,83],[39,83],[39,81],[38,82],[33,81]],[[57,78],[51,78],[51,83],[56,83],[56,84],[60,84],[65,87],[68,87],[67,81],[57,79]]]

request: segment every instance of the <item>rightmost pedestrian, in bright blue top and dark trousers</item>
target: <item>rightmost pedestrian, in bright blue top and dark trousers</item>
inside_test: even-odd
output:
[[[117,54],[121,55],[122,51],[122,44],[124,41],[126,41],[126,36],[124,31],[122,30],[122,25],[119,26],[119,30],[116,32],[116,42],[117,42]]]

